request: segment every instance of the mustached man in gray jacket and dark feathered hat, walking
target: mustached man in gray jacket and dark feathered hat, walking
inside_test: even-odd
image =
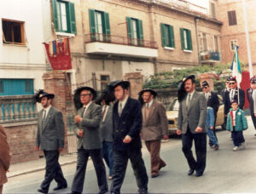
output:
[[[206,168],[207,160],[207,101],[203,94],[195,91],[195,76],[183,80],[186,95],[181,100],[177,118],[177,134],[182,134],[183,153],[189,163],[188,175],[199,177]],[[196,159],[191,151],[195,141]]]

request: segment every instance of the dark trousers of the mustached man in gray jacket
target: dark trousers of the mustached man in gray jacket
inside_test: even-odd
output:
[[[189,163],[189,168],[203,173],[207,162],[207,134],[192,134],[189,127],[186,134],[182,135],[183,153]],[[196,161],[191,151],[193,140],[195,141]]]

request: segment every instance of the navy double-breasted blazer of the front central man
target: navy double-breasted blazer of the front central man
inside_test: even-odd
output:
[[[113,150],[141,148],[140,132],[142,130],[143,114],[139,101],[128,97],[121,117],[119,117],[118,105],[119,101],[113,106]],[[127,134],[132,138],[129,144],[123,143]]]

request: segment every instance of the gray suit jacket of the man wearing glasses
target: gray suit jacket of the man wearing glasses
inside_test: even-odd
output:
[[[83,117],[83,109],[80,108],[78,115]],[[81,123],[76,123],[73,130],[78,137],[78,150],[82,147],[85,150],[101,149],[102,140],[100,134],[100,123],[102,121],[102,106],[98,106],[95,103],[91,103],[84,114]],[[78,130],[84,130],[84,136],[81,138],[78,135]]]

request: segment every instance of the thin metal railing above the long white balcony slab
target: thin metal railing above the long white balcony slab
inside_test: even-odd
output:
[[[101,43],[115,43],[123,45],[131,45],[145,48],[157,48],[156,42],[148,41],[144,39],[120,37],[109,34],[91,33],[85,34],[85,43],[101,42]]]

